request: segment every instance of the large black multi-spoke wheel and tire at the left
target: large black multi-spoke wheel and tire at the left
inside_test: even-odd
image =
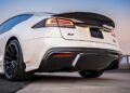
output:
[[[5,48],[3,68],[6,79],[11,81],[26,80],[34,75],[25,72],[22,49],[16,39],[11,40]]]

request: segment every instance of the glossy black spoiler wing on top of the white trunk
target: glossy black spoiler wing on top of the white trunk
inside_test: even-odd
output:
[[[98,13],[91,13],[91,12],[69,12],[69,13],[61,13],[61,14],[55,14],[53,16],[58,16],[58,17],[67,17],[67,18],[76,18],[79,21],[82,21],[87,24],[93,24],[98,26],[103,26],[103,24],[106,24],[108,26],[115,27],[115,23],[113,19],[110,19],[107,16],[104,16],[102,14]]]

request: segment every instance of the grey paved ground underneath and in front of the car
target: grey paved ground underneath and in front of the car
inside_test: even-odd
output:
[[[130,93],[130,70],[104,72],[83,79],[77,72],[36,74],[31,80],[11,82],[0,75],[0,93]]]

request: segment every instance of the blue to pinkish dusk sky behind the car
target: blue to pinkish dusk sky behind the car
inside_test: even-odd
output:
[[[0,0],[0,24],[25,12],[94,12],[114,19],[119,45],[130,54],[130,0]]]

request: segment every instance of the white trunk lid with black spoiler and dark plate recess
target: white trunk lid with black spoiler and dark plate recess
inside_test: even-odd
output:
[[[115,44],[116,38],[112,36],[114,22],[101,14],[74,12],[56,14],[56,17],[72,19],[75,28],[60,27],[62,37],[66,40],[91,41]]]

